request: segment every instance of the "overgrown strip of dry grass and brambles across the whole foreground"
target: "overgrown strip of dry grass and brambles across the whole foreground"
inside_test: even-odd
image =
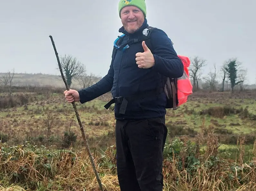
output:
[[[218,139],[213,126],[205,127],[203,121],[201,129],[194,137],[194,143],[188,137],[181,137],[166,144],[164,191],[256,190],[256,162],[243,162],[244,137],[238,139],[241,149],[238,152],[239,160],[235,162],[217,156]],[[204,149],[203,142],[206,143]],[[99,190],[85,149],[71,148],[59,152],[29,143],[15,147],[7,144],[0,146],[0,177],[5,184],[45,191]],[[94,159],[104,190],[120,190],[115,146],[110,146],[103,154],[94,154]]]

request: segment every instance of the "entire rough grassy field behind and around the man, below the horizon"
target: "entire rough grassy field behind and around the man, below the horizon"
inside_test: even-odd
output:
[[[1,93],[1,190],[99,190],[63,91],[17,89],[12,102]],[[255,97],[199,91],[167,110],[164,190],[256,190]],[[76,105],[105,189],[119,190],[110,98]]]

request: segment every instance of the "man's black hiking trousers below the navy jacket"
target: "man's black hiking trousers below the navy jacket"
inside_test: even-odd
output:
[[[165,117],[116,121],[117,172],[121,191],[163,190]]]

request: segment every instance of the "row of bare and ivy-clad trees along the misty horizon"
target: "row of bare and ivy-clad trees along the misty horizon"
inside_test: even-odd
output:
[[[198,56],[190,58],[190,61],[189,71],[191,82],[193,84],[193,91],[202,88],[212,91],[231,89],[233,92],[237,85],[239,85],[240,90],[244,89],[247,69],[243,68],[242,63],[239,62],[237,58],[224,61],[219,70],[217,70],[216,64],[213,64],[213,67],[210,67],[210,72],[205,76],[202,75],[202,71],[204,67],[207,66],[207,61]],[[85,65],[72,55],[65,54],[64,56],[61,56],[60,62],[62,72],[65,75],[69,87],[71,87],[74,79],[80,82],[82,88],[89,87],[101,79],[101,77],[92,73],[88,74]],[[59,68],[56,69],[59,70]],[[9,87],[10,96],[12,94],[11,87],[15,86],[15,83],[13,82],[14,72],[15,70],[13,69],[0,76],[0,85]]]

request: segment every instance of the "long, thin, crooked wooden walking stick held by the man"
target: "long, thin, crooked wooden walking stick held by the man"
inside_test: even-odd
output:
[[[56,55],[56,58],[57,58],[57,61],[58,61],[58,64],[59,64],[59,69],[60,69],[60,72],[61,72],[62,79],[63,79],[63,81],[64,81],[64,83],[65,83],[65,85],[66,85],[67,90],[69,90],[67,81],[66,81],[66,79],[64,78],[64,75],[63,75],[63,72],[62,72],[62,67],[61,67],[60,59],[59,59],[59,56],[58,56],[58,53],[57,53],[57,50],[56,50],[54,41],[53,41],[51,35],[50,35],[49,37],[51,38],[51,41],[52,41],[52,46],[53,46],[53,49],[54,49],[54,52],[55,52],[55,55]],[[77,120],[78,120],[78,123],[79,123],[79,125],[80,125],[80,129],[81,129],[83,141],[84,141],[84,143],[85,143],[86,150],[87,150],[87,152],[88,152],[88,154],[89,154],[93,171],[94,171],[94,173],[95,173],[96,179],[97,179],[97,181],[98,181],[98,183],[99,183],[99,186],[100,186],[100,191],[103,191],[103,187],[102,187],[102,184],[101,184],[101,181],[100,181],[100,177],[99,177],[99,174],[98,174],[98,172],[97,172],[97,170],[96,170],[95,163],[94,163],[93,157],[92,157],[92,155],[91,155],[91,151],[90,151],[90,148],[89,148],[87,139],[86,139],[86,137],[85,137],[83,125],[82,125],[82,123],[81,123],[79,114],[78,114],[77,109],[76,109],[76,105],[75,105],[74,102],[72,102],[72,105],[73,105],[73,108],[74,108],[74,110],[75,110],[76,118],[77,118]]]

